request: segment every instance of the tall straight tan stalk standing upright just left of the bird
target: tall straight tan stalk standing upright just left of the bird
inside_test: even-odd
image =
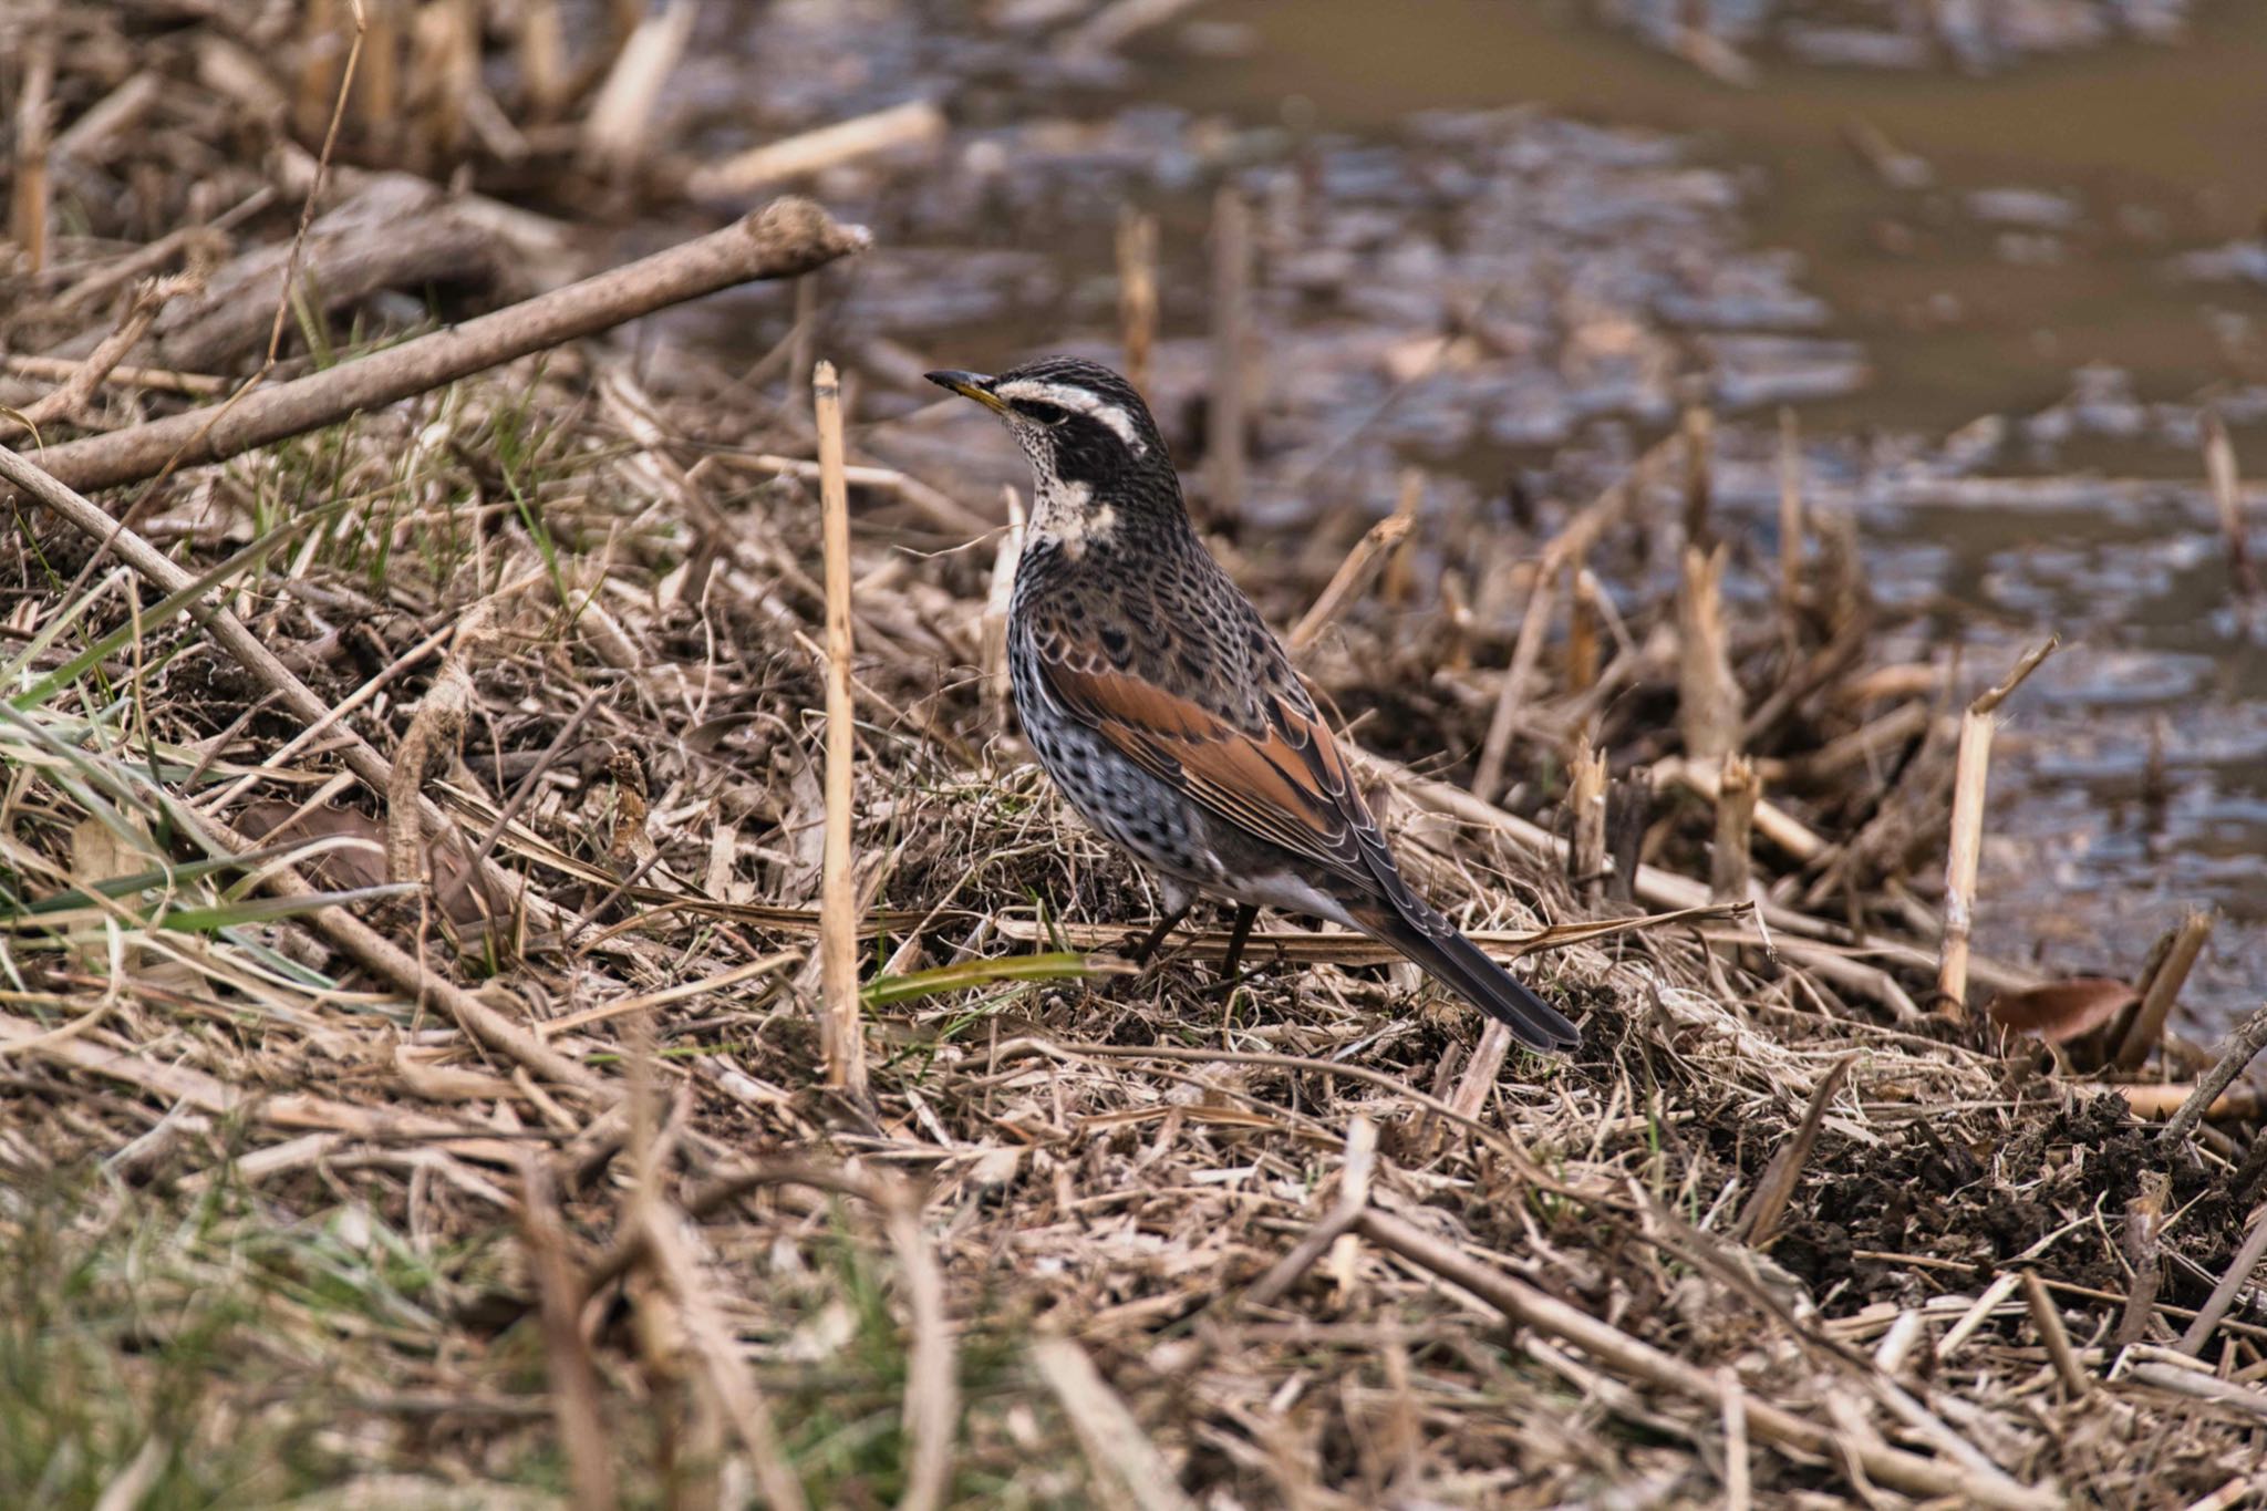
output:
[[[866,1035],[857,1006],[857,874],[850,854],[850,487],[843,483],[843,399],[834,362],[812,374],[818,424],[818,507],[827,557],[827,827],[818,879],[818,979],[825,992],[821,1044],[827,1085],[866,1099]]]

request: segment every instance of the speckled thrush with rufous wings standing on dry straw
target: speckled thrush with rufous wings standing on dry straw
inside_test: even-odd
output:
[[[1063,356],[927,378],[997,415],[1031,464],[1009,686],[1054,786],[1158,879],[1165,915],[1136,958],[1217,897],[1236,904],[1233,981],[1274,906],[1399,949],[1535,1049],[1578,1044],[1401,879],[1290,655],[1197,537],[1134,385]]]

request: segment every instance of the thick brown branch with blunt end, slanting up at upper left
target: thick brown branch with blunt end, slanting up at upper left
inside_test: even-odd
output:
[[[837,224],[809,199],[775,199],[723,231],[494,315],[340,362],[297,383],[245,394],[220,412],[190,410],[131,430],[52,446],[41,462],[52,478],[77,489],[134,483],[168,467],[220,462],[719,288],[805,274],[861,251],[868,240],[864,227]]]

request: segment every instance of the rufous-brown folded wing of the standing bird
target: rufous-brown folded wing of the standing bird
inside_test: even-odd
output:
[[[1038,652],[1054,700],[1149,775],[1362,890],[1399,890],[1376,820],[1313,707],[1265,695],[1260,727],[1247,729],[1099,652],[1079,655],[1068,637],[1038,637]]]

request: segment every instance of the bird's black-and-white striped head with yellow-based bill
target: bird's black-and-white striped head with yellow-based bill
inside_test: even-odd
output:
[[[1097,496],[1111,496],[1127,485],[1172,478],[1172,458],[1149,419],[1149,406],[1131,383],[1097,362],[1041,358],[988,378],[975,372],[932,372],[929,383],[975,399],[1007,421],[1031,458],[1041,492],[1059,480],[1084,483]]]

